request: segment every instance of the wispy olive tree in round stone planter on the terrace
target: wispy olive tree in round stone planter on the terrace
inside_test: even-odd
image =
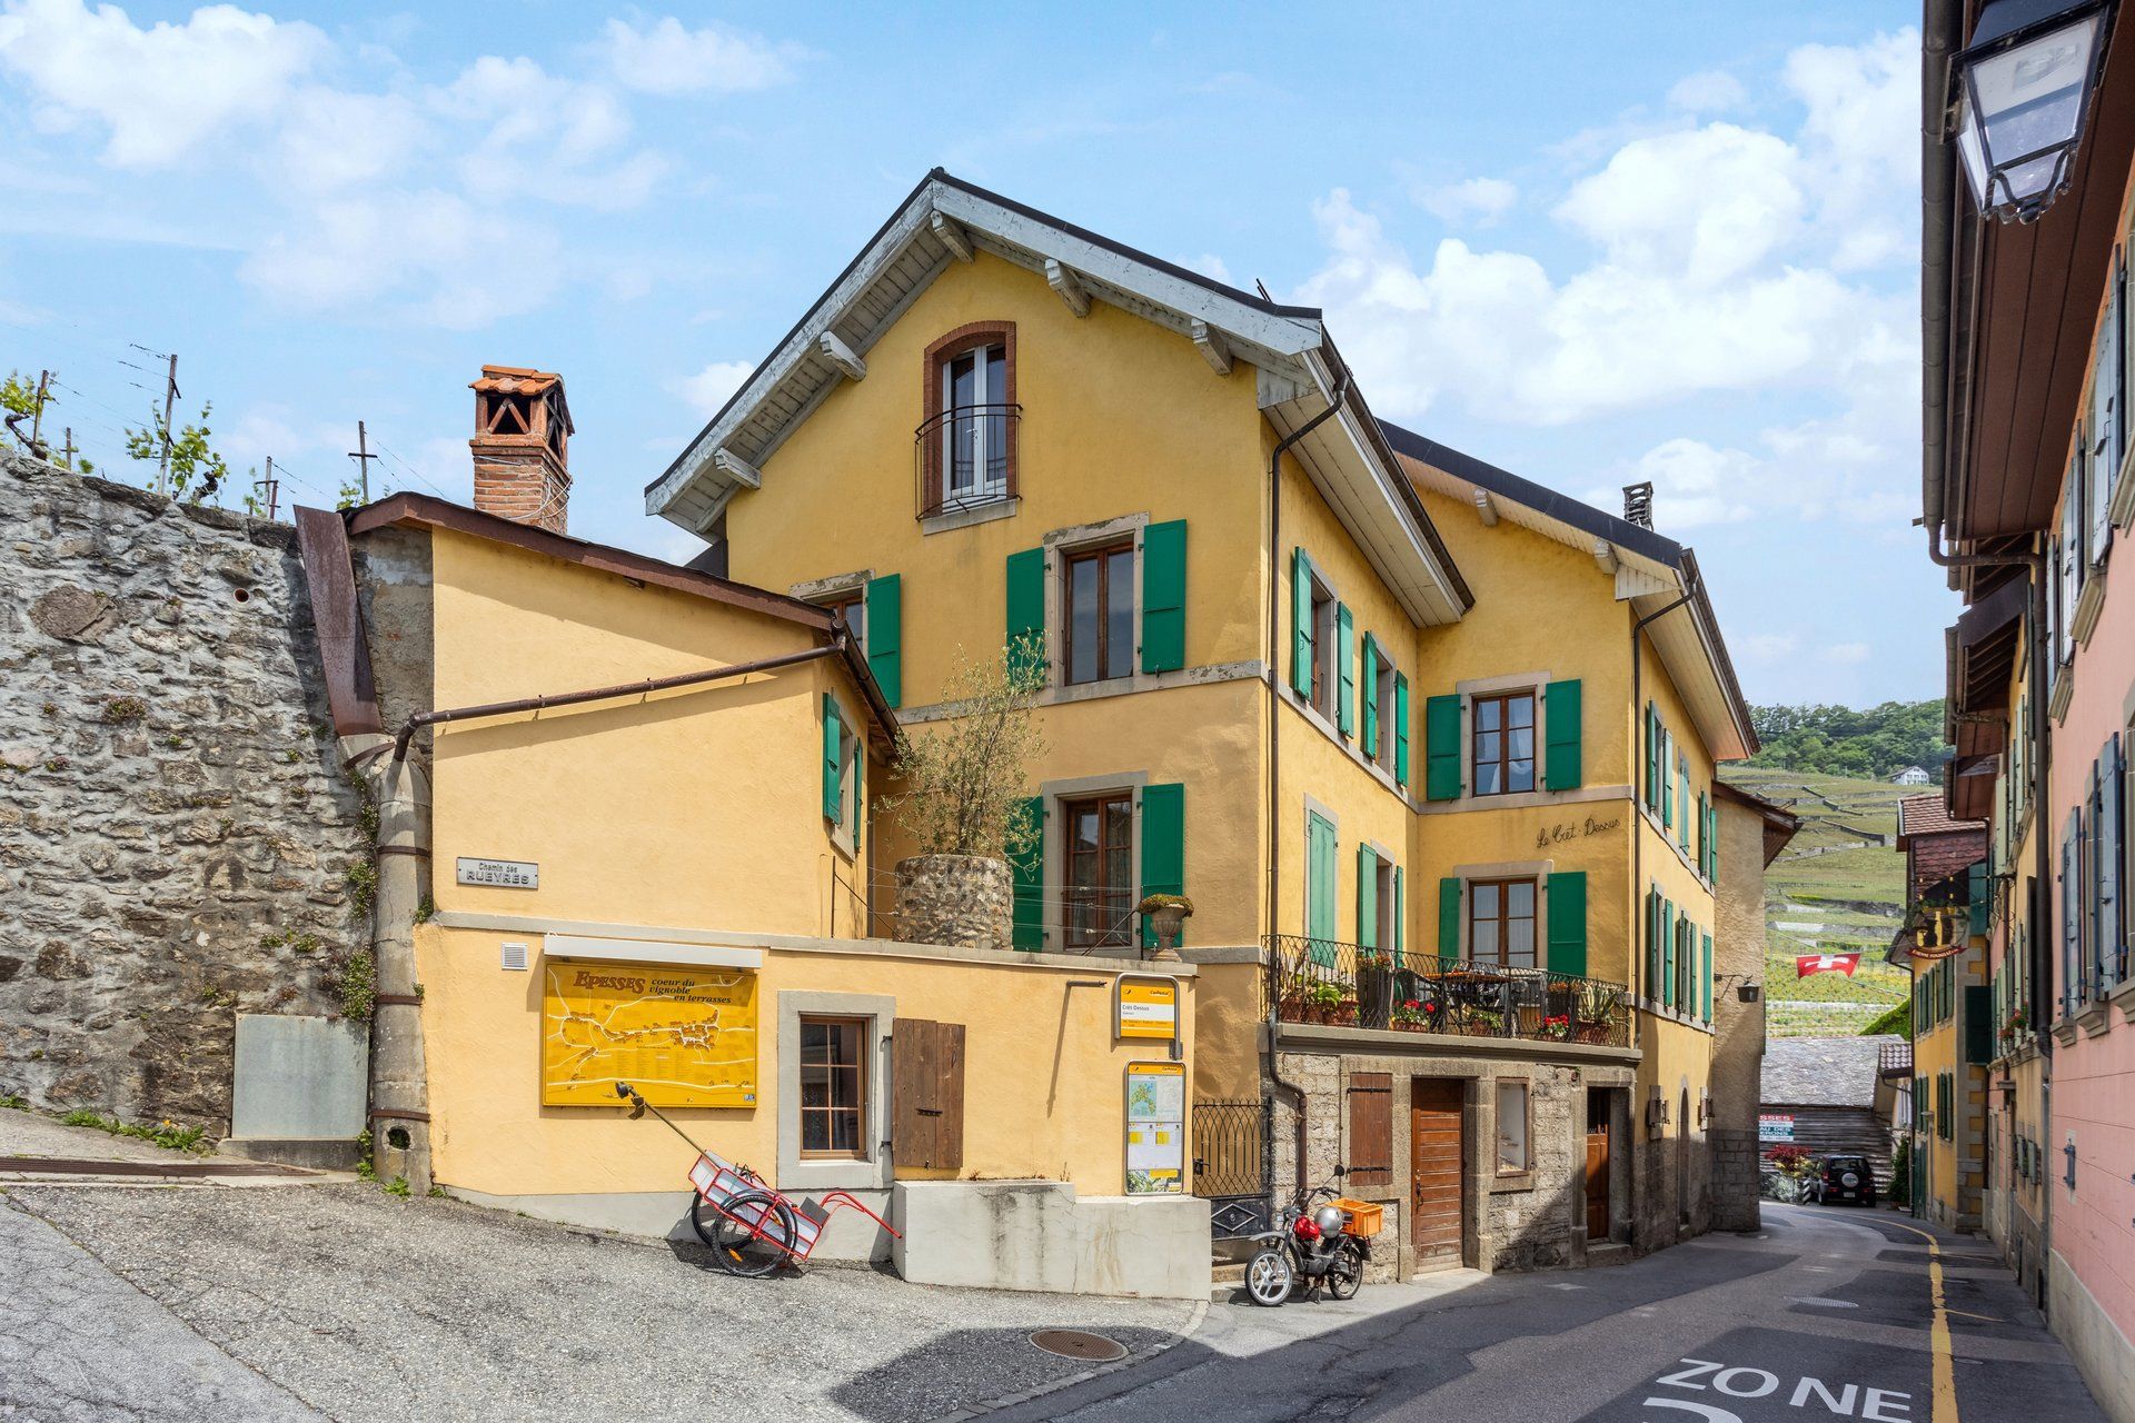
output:
[[[897,862],[899,939],[1010,947],[1010,864],[1040,843],[1023,777],[1044,751],[1031,719],[1044,685],[1044,653],[1029,642],[961,655],[946,698],[954,715],[899,732],[890,772],[903,789],[880,802],[918,849]]]

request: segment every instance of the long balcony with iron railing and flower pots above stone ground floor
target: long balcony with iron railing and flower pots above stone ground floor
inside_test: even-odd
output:
[[[1272,934],[1264,949],[1262,992],[1275,1001],[1262,1011],[1277,1022],[1631,1045],[1623,984],[1298,934]]]

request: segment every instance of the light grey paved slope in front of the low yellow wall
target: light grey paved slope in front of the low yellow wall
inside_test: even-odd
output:
[[[1142,1353],[1198,1316],[1181,1301],[950,1291],[850,1267],[734,1280],[696,1246],[359,1182],[4,1190],[15,1210],[0,1212],[0,1259],[30,1242],[38,1299],[79,1299],[90,1318],[41,1333],[28,1374],[0,1357],[0,1400],[30,1417],[73,1417],[56,1404],[83,1397],[158,1419],[312,1417],[307,1406],[363,1423],[920,1423],[1089,1368],[1031,1346],[1033,1329],[1089,1329]],[[109,1306],[124,1297],[130,1314]],[[102,1327],[107,1308],[115,1323]],[[0,1333],[21,1325],[0,1312]],[[122,1331],[147,1344],[117,1348]],[[192,1382],[143,1397],[137,1385],[156,1374]],[[239,1397],[246,1387],[256,1393]]]

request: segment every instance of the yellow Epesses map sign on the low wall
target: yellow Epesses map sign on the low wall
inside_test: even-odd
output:
[[[540,1099],[613,1107],[756,1105],[756,971],[551,958],[542,964]]]

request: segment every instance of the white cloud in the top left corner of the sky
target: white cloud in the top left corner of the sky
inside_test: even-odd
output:
[[[154,169],[273,115],[329,49],[301,21],[211,4],[141,30],[115,4],[19,0],[0,15],[0,66],[36,96],[47,132],[107,130],[105,160]]]

